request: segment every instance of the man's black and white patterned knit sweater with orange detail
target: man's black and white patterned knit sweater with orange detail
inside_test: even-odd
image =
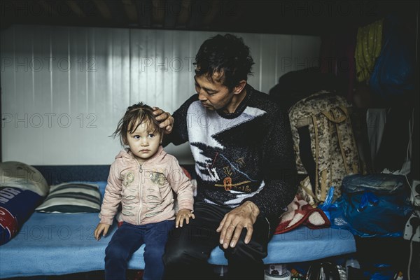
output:
[[[196,201],[237,207],[250,200],[279,218],[295,196],[295,155],[288,113],[246,85],[235,113],[210,111],[195,94],[173,114],[164,145],[190,142],[197,172]]]

